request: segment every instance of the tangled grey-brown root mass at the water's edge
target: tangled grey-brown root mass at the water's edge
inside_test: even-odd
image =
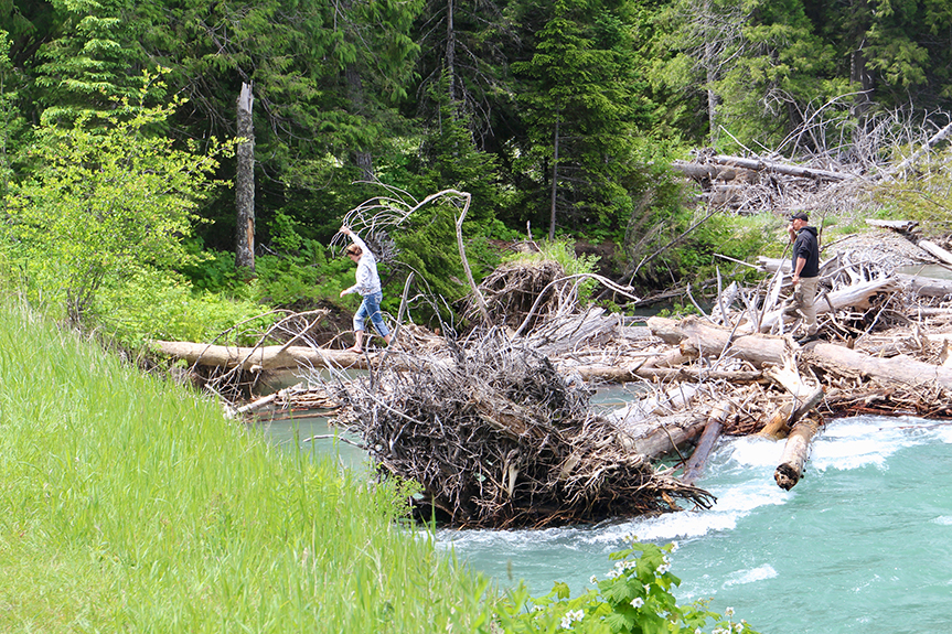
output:
[[[492,331],[441,363],[350,382],[340,423],[379,469],[422,486],[417,512],[461,527],[544,527],[708,507],[590,407],[590,391]]]

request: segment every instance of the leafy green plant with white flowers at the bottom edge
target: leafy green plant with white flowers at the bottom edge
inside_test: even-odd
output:
[[[614,568],[605,579],[595,576],[595,588],[570,598],[564,583],[533,599],[520,587],[496,606],[496,623],[506,634],[559,631],[586,634],[699,634],[707,627],[716,633],[755,634],[745,622],[710,612],[703,602],[677,605],[673,588],[681,580],[671,573],[674,544],[655,546],[633,538],[629,548],[613,552]]]

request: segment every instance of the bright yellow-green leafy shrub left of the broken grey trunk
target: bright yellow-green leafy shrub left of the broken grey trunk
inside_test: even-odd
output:
[[[147,88],[156,77],[142,76]],[[182,245],[213,180],[216,154],[177,149],[150,135],[181,100],[84,112],[73,128],[44,123],[35,130],[32,171],[8,197],[8,240],[22,244],[45,279],[47,294],[62,295],[76,323],[98,289],[143,268],[170,268],[193,257]]]

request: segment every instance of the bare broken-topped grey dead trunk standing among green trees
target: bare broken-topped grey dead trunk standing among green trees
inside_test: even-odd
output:
[[[235,267],[255,273],[255,127],[252,119],[254,104],[252,85],[242,84],[238,96],[237,172],[235,174]]]

